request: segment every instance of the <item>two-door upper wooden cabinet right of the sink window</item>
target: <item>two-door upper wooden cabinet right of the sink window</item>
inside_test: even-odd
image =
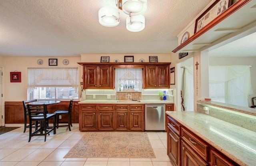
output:
[[[169,65],[146,66],[144,89],[170,88]]]

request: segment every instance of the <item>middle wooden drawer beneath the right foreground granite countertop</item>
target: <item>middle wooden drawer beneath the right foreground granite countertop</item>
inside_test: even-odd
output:
[[[182,139],[191,146],[191,148],[198,153],[204,160],[208,161],[209,146],[199,140],[196,136],[191,134],[185,128],[182,128]]]

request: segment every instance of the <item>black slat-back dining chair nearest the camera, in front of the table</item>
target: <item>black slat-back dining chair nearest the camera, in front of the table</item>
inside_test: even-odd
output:
[[[53,134],[56,134],[56,114],[48,114],[45,104],[30,105],[27,104],[28,119],[29,119],[29,139],[30,142],[32,136],[44,136],[44,142],[46,141],[46,135],[50,135],[53,130]],[[52,119],[53,126],[47,126],[47,122]],[[40,122],[40,127],[32,132],[32,122]]]

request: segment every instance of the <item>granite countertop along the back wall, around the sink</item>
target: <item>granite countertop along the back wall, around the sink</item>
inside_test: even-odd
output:
[[[118,102],[120,101],[120,102]],[[169,100],[84,100],[78,102],[78,104],[172,104],[173,102]]]

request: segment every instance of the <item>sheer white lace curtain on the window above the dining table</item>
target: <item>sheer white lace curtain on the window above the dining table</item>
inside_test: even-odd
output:
[[[28,92],[36,87],[63,86],[78,91],[78,68],[28,68]]]

